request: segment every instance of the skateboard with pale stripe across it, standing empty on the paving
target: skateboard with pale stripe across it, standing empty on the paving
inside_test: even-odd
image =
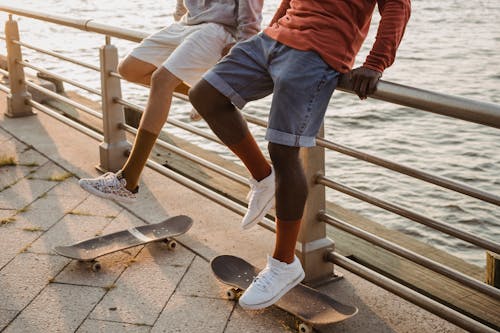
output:
[[[189,216],[178,215],[160,223],[121,230],[67,246],[56,246],[54,251],[64,257],[88,262],[90,268],[98,272],[101,264],[96,259],[110,253],[159,241],[166,243],[167,248],[173,250],[177,242],[171,237],[182,235],[192,225],[193,220]]]

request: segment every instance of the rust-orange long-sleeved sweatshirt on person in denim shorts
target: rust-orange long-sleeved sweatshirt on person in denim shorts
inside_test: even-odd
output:
[[[396,55],[410,18],[410,0],[282,0],[269,37],[298,50],[318,52],[338,72],[351,70],[378,3],[377,37],[363,66],[383,72]]]

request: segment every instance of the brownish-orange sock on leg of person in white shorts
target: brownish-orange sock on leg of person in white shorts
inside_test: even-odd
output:
[[[158,135],[139,129],[135,137],[132,152],[122,168],[123,177],[127,181],[127,190],[134,191],[139,184],[142,170],[146,165],[149,153],[153,150]]]

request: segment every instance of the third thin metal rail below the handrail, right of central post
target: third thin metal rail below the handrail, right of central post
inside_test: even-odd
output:
[[[473,279],[457,270],[444,266],[436,261],[428,259],[420,254],[417,254],[413,251],[407,250],[395,243],[387,241],[381,237],[370,234],[360,228],[357,228],[353,225],[350,225],[340,219],[337,219],[333,216],[327,215],[325,212],[319,212],[318,219],[323,221],[333,227],[339,228],[351,235],[357,236],[359,238],[364,239],[367,242],[370,242],[374,245],[377,245],[387,251],[397,254],[403,258],[406,258],[414,263],[417,263],[423,267],[426,267],[434,272],[437,272],[441,275],[444,275],[452,280],[455,280],[459,283],[462,283],[465,286],[468,286],[474,290],[480,291],[486,295],[489,295],[493,298],[500,299],[500,289],[496,289],[492,286],[484,284],[476,279]]]

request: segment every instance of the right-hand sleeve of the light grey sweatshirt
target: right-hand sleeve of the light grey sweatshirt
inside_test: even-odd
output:
[[[260,31],[263,0],[239,0],[238,32],[236,39],[242,41]]]

